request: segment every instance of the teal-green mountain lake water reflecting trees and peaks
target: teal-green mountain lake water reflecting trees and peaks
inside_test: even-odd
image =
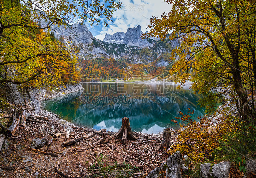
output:
[[[195,119],[204,114],[196,102],[201,95],[176,90],[175,85],[84,83],[82,86],[83,91],[41,102],[42,107],[65,120],[97,130],[116,132],[122,118],[129,117],[132,130],[149,134],[176,128],[172,119],[179,116],[178,111],[186,113],[191,108]]]

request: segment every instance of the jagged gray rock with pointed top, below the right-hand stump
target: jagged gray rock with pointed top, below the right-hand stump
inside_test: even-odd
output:
[[[161,171],[166,171],[167,178],[181,178],[180,169],[187,167],[184,164],[184,160],[182,159],[181,153],[176,152],[172,154],[166,162],[162,163],[160,167],[156,167],[152,170],[146,178],[157,178],[159,177],[159,173]]]

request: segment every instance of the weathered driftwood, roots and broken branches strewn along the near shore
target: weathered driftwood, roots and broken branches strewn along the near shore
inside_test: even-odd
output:
[[[57,115],[51,114],[58,118]],[[107,158],[117,161],[121,167],[142,169],[141,173],[149,172],[166,160],[167,150],[164,149],[166,138],[168,138],[167,146],[176,143],[176,137],[171,135],[170,130],[167,130],[170,135],[164,136],[164,140],[162,136],[159,138],[159,135],[132,132],[129,118],[122,119],[122,127],[116,133],[106,132],[106,129],[96,131],[95,129],[81,128],[73,124],[68,124],[68,127],[64,129],[59,120],[48,119],[48,117],[40,113],[34,114],[31,110],[26,110],[26,108],[23,108],[20,112],[13,112],[12,119],[12,125],[8,129],[4,128],[5,134],[9,139],[27,139],[28,136],[31,137],[38,134],[45,138],[47,149],[26,147],[28,150],[58,157],[58,154],[62,154],[62,152],[52,150],[49,146],[52,146],[54,139],[65,139],[60,144],[60,150],[63,147],[69,147],[74,152],[94,151],[95,157],[100,155],[107,156]],[[15,136],[15,133],[19,130],[18,136]],[[99,150],[104,150],[104,152]],[[58,166],[59,163],[55,167],[46,168],[45,171],[41,172],[42,174],[49,174],[50,170],[55,170],[60,176],[71,178],[61,173],[58,170]],[[80,174],[82,177],[90,177],[84,172]]]

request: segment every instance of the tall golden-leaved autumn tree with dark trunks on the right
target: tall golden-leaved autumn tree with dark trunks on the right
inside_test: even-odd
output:
[[[170,39],[180,39],[171,74],[195,81],[205,105],[228,93],[244,120],[255,116],[255,2],[164,1],[172,10],[151,18],[148,35],[164,39],[171,32]]]

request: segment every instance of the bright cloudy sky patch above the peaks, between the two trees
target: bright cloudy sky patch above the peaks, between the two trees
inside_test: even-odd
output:
[[[103,24],[86,26],[97,39],[103,40],[106,33],[113,35],[116,32],[126,32],[128,28],[141,26],[142,32],[147,31],[147,25],[152,16],[160,17],[163,12],[169,12],[172,8],[164,0],[120,0],[122,9],[114,12],[112,20],[107,28]]]

